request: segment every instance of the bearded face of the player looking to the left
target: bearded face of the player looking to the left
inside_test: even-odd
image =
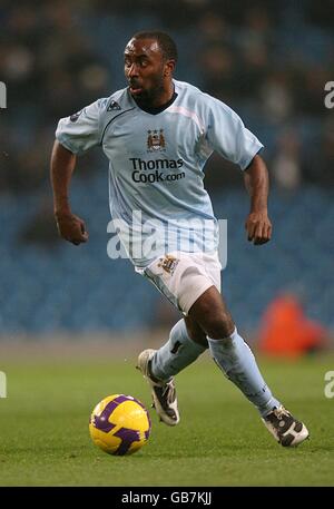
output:
[[[170,81],[173,60],[165,60],[155,39],[131,39],[125,49],[125,75],[132,97],[155,104]]]

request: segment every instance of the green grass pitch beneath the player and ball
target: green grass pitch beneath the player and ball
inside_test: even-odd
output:
[[[135,370],[137,349],[121,356],[1,359],[8,398],[0,399],[0,486],[334,486],[334,399],[324,375],[334,356],[298,362],[259,359],[267,383],[305,421],[311,440],[278,446],[256,410],[204,356],[177,376],[181,421],[153,421],[148,443],[112,457],[90,441],[95,404],[112,393],[150,405]]]

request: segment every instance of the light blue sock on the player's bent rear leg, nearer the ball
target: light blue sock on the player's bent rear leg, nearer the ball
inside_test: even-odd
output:
[[[188,336],[186,323],[179,320],[170,331],[169,340],[155,353],[151,360],[151,374],[158,380],[168,381],[206,350]]]

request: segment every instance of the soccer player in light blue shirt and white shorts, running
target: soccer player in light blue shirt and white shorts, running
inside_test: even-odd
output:
[[[128,86],[59,121],[51,156],[59,233],[75,245],[88,241],[84,221],[71,212],[69,187],[77,156],[99,145],[109,159],[111,216],[128,256],[183,313],[167,343],[138,358],[160,420],[179,422],[174,376],[209,349],[274,438],[297,446],[308,437],[306,427],[272,394],[220,293],[217,219],[203,184],[214,150],[238,165],[250,196],[248,241],[268,242],[263,145],[228,106],[174,79],[177,48],[168,35],[136,33],[124,57]]]

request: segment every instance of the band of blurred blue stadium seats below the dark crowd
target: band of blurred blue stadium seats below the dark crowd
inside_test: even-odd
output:
[[[127,260],[107,256],[109,212],[106,175],[78,180],[73,208],[87,222],[90,241],[75,247],[61,241],[22,244],[40,196],[0,196],[0,327],[6,333],[135,331],[158,326],[158,292]],[[333,193],[316,187],[291,195],[272,193],[272,243],[247,243],[248,198],[240,189],[213,196],[218,218],[228,219],[228,261],[223,285],[240,326],[255,327],[279,291],[297,292],[307,314],[334,326]],[[166,306],[169,304],[166,302]]]

